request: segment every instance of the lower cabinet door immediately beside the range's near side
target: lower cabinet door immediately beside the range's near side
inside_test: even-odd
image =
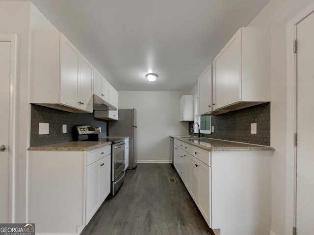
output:
[[[110,193],[111,154],[100,159],[100,205]]]

